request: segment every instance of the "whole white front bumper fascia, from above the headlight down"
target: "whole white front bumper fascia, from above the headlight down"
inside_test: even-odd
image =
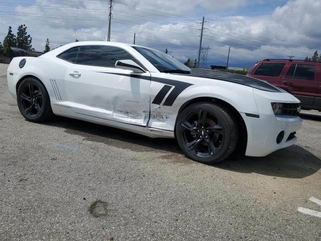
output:
[[[240,113],[247,128],[247,149],[245,155],[253,157],[266,156],[276,150],[296,143],[293,133],[302,126],[302,119],[293,115],[275,115],[271,103],[299,103],[299,100],[287,92],[268,92],[253,89],[259,118]],[[276,138],[280,132],[284,137],[280,143]]]

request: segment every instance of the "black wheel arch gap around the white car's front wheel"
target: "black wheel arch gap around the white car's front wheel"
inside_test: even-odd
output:
[[[215,97],[209,97],[209,96],[196,97],[196,98],[190,99],[190,100],[186,101],[184,104],[182,104],[179,111],[178,111],[177,116],[179,116],[187,106],[194,104],[194,103],[198,103],[198,102],[218,103],[221,106],[224,106],[224,107],[228,108],[230,111],[232,111],[233,115],[236,118],[237,125],[239,127],[239,137],[240,137],[238,140],[237,147],[236,147],[236,152],[241,153],[241,154],[245,154],[245,151],[247,148],[247,127],[246,127],[246,124],[244,122],[243,117],[239,113],[239,111],[237,111],[237,109],[233,105],[226,102],[225,100],[215,98]],[[175,128],[176,128],[177,121],[178,121],[178,118],[176,118],[176,121],[175,121]],[[174,133],[176,133],[176,130],[174,130]]]

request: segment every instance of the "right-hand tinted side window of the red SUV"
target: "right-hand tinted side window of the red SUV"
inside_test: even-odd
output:
[[[292,64],[287,71],[286,78],[314,80],[315,66],[307,64]]]

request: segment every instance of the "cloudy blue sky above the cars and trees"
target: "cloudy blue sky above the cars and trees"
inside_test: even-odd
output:
[[[304,59],[321,52],[320,0],[113,0],[111,41],[133,43],[185,62],[210,47],[207,66],[250,68],[266,58]],[[0,0],[0,42],[25,24],[43,51],[79,41],[105,41],[109,0]],[[201,65],[203,63],[201,62]]]

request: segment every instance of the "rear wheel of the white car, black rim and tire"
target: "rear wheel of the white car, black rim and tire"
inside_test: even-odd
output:
[[[48,91],[35,77],[28,77],[21,82],[17,103],[21,114],[30,122],[48,121],[53,116]]]

